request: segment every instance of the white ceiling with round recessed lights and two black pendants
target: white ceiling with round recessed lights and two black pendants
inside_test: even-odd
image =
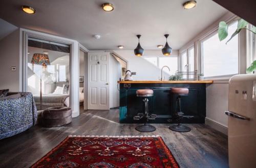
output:
[[[164,44],[164,34],[174,50],[180,49],[227,10],[211,0],[197,0],[197,7],[184,10],[186,0],[8,0],[1,1],[0,17],[17,27],[32,29],[79,41],[89,50],[133,50],[136,34],[146,50]],[[104,12],[101,4],[114,4]],[[21,5],[36,9],[34,15],[20,10]],[[93,35],[99,34],[96,40]]]

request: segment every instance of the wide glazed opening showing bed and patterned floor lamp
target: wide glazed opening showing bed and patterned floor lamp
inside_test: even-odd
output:
[[[37,110],[70,107],[70,45],[28,38],[27,90]]]

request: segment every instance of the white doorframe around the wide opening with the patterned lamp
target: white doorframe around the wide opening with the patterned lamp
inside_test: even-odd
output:
[[[40,39],[45,39],[49,41],[56,41],[60,43],[65,43],[70,45],[70,107],[72,109],[72,117],[79,116],[79,47],[86,50],[86,47],[79,44],[76,40],[63,38],[55,35],[50,35],[46,33],[36,32],[27,29],[20,29],[20,71],[22,71],[22,81],[19,88],[22,91],[27,91],[27,43],[28,37],[35,37]]]

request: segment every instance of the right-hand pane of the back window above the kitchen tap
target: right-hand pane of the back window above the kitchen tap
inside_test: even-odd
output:
[[[178,57],[159,57],[159,68],[162,68],[164,65],[170,68],[164,68],[163,70],[168,73],[174,75],[178,70]]]

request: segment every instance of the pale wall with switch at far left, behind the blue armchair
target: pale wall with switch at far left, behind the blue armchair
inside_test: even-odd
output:
[[[19,90],[19,29],[0,41],[0,89]],[[16,66],[16,71],[11,67]]]

